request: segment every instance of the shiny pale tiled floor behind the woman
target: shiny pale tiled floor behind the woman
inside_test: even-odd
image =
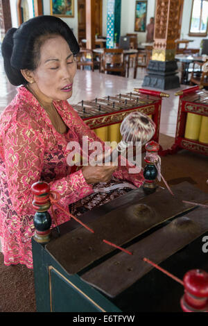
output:
[[[69,103],[76,104],[82,100],[91,100],[96,97],[101,98],[107,95],[132,92],[135,87],[141,87],[145,75],[146,69],[144,68],[138,68],[137,79],[133,78],[133,69],[130,69],[129,78],[100,74],[98,71],[78,70],[74,78],[73,95],[69,99]],[[182,85],[180,89],[186,87],[187,86]],[[161,91],[161,89],[158,90]],[[179,89],[165,91],[170,94],[170,97],[163,98],[162,100],[159,132],[171,137],[175,137],[179,98],[174,94],[177,90]],[[10,103],[16,92],[16,87],[12,86],[6,78],[3,69],[3,59],[0,56],[0,112]]]

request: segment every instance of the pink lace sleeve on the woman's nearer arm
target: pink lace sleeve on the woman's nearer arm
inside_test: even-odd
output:
[[[31,124],[12,123],[3,139],[4,162],[8,180],[8,191],[12,205],[19,215],[34,214],[31,186],[40,180],[44,164],[44,137]],[[82,171],[52,181],[50,188],[57,191],[61,201],[73,203],[88,194],[92,187],[87,185]]]

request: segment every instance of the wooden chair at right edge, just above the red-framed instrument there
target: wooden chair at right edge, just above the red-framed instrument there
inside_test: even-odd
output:
[[[190,85],[208,87],[208,60],[206,62],[193,62]]]

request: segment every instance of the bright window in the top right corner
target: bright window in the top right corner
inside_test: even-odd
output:
[[[207,36],[208,0],[193,0],[189,36]]]

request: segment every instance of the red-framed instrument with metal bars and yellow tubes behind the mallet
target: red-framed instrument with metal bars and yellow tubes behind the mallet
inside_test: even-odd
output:
[[[87,126],[103,141],[121,141],[120,126],[131,112],[147,114],[155,123],[153,140],[159,139],[159,122],[162,97],[169,95],[148,89],[137,89],[127,94],[117,94],[72,105]]]

